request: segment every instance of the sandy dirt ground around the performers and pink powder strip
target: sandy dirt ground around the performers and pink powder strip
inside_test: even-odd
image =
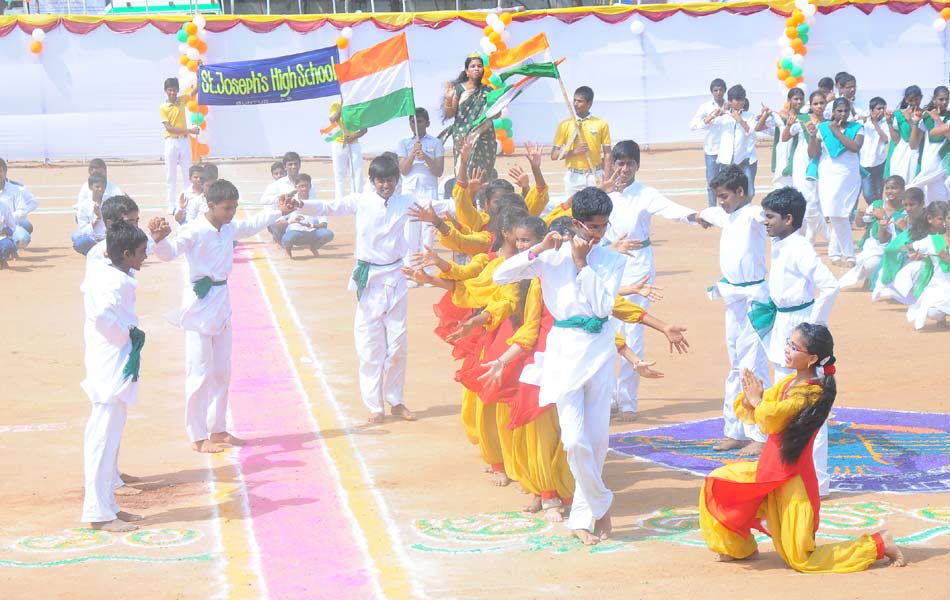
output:
[[[524,162],[515,156],[499,159],[499,164],[518,160]],[[222,161],[219,166],[221,176],[234,181],[252,203],[269,182],[270,162]],[[701,151],[652,151],[642,162],[641,181],[678,202],[705,206]],[[763,173],[765,163],[757,181],[759,200],[770,183],[769,174]],[[547,161],[545,169],[558,193],[559,165]],[[314,176],[318,196],[325,197],[332,189],[327,160],[305,160],[303,171]],[[0,272],[8,340],[0,360],[5,400],[0,417],[4,481],[0,596],[11,600],[291,597],[279,595],[273,580],[262,583],[267,577],[255,567],[269,557],[259,556],[264,546],[252,540],[245,482],[234,462],[191,452],[183,431],[182,336],[162,318],[179,301],[180,262],[150,259],[139,277],[137,309],[149,338],[139,403],[130,409],[121,453],[123,470],[143,477],[138,487],[145,491],[120,498],[120,504],[146,515],[143,528],[153,537],[102,545],[94,536],[64,533],[82,526],[78,522],[81,444],[89,412],[78,385],[83,377],[79,283],[84,259],[70,246],[74,221],[68,210],[85,176],[82,165],[39,168],[14,163],[10,170],[11,178],[33,190],[41,209],[32,218],[36,228],[32,245],[12,263],[13,269]],[[116,163],[109,176],[143,207],[143,224],[159,214],[164,189],[161,165]],[[346,490],[341,501],[351,505],[362,525],[365,544],[360,543],[367,560],[373,561],[367,572],[378,580],[372,595],[741,598],[767,591],[783,598],[871,598],[884,590],[899,590],[921,600],[946,598],[950,536],[942,534],[908,546],[910,565],[905,569],[883,568],[880,563],[849,576],[800,575],[785,567],[768,543],[762,545],[757,560],[715,563],[711,553],[697,544],[700,538],[673,535],[682,524],[677,511],[695,508],[701,480],[614,453],[605,469],[607,484],[616,494],[611,545],[599,551],[579,548],[566,540],[561,527],[544,529],[540,537],[518,537],[519,527],[530,529],[537,523],[518,521],[519,515],[511,511],[518,511],[527,497],[516,485],[492,487],[482,473],[477,450],[464,439],[458,418],[461,391],[452,379],[455,367],[447,347],[432,333],[436,290],[410,290],[407,402],[420,420],[363,425],[366,415],[358,395],[352,338],[355,299],[346,290],[353,221],[333,218],[330,223],[336,239],[320,258],[306,253],[291,261],[263,237],[249,241],[246,251],[265,288],[271,285],[268,281],[280,282],[279,289],[271,288],[278,289],[280,299],[270,302],[275,313],[292,307],[299,316],[299,325],[284,331],[288,352],[303,340],[300,343],[309,344],[316,358],[316,376],[322,383],[311,385],[302,376],[302,385],[316,421],[324,424],[319,433],[326,456],[336,464]],[[614,433],[715,417],[722,410],[727,368],[723,312],[705,296],[706,286],[720,277],[719,233],[656,219],[652,239],[665,298],[651,312],[688,327],[692,351],[688,356],[670,356],[658,334],[648,335],[647,356],[658,361],[666,378],[643,382],[639,419],[614,425]],[[242,315],[236,313],[236,331],[242,323]],[[939,357],[950,347],[950,330],[931,325],[915,333],[901,307],[871,304],[866,292],[854,290],[840,294],[831,329],[837,342],[838,406],[941,413],[934,419],[946,421],[950,395],[945,362]],[[285,361],[279,355],[263,358],[275,364]],[[309,358],[301,359],[308,362]],[[267,394],[260,400],[266,403]],[[321,420],[322,416],[333,420]],[[351,463],[356,465],[352,471]],[[278,469],[275,477],[282,473],[278,467],[270,466]],[[352,473],[358,476],[351,478]],[[384,510],[357,506],[363,494],[371,498],[367,506]],[[836,504],[863,504],[865,510],[871,505],[897,507],[900,510],[887,517],[887,524],[895,535],[907,536],[919,526],[910,516],[914,511],[931,508],[942,511],[946,519],[950,493],[834,494],[826,506]],[[368,524],[383,516],[379,529]],[[666,539],[658,539],[645,525],[655,517],[669,517],[671,534]],[[312,535],[320,537],[326,525],[301,522],[296,527],[312,528]],[[301,572],[325,568],[305,555],[294,560]],[[405,585],[393,584],[394,578]],[[325,589],[299,597],[345,596],[359,597]]]

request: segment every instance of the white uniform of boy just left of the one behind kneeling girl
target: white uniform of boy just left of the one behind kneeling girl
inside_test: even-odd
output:
[[[729,374],[723,396],[723,435],[734,440],[765,442],[755,424],[743,423],[733,407],[742,391],[742,372],[749,369],[762,381],[768,381],[769,361],[765,348],[759,343],[749,309],[753,300],[768,301],[765,285],[765,216],[761,206],[746,204],[728,214],[715,206],[704,209],[700,215],[705,221],[720,227],[719,268],[723,280],[709,289],[709,299],[722,298],[726,307],[726,352],[729,356]],[[750,284],[753,285],[735,285]]]

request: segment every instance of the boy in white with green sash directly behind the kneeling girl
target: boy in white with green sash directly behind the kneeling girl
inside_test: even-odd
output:
[[[792,331],[800,323],[826,325],[839,289],[835,276],[799,233],[805,218],[801,192],[795,188],[775,190],[762,201],[762,209],[766,234],[772,238],[769,300],[753,301],[749,319],[762,340],[777,383],[792,372],[785,368],[785,348]],[[815,438],[814,457],[818,491],[824,496],[831,486],[827,424]]]

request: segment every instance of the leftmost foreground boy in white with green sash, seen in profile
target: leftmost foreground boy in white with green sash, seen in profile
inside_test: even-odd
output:
[[[145,233],[119,221],[106,238],[109,263],[89,265],[82,284],[86,319],[86,378],[80,384],[92,402],[83,440],[85,497],[82,520],[93,529],[132,531],[138,515],[115,501],[117,460],[126,409],[138,395],[139,366],[145,334],[135,316],[135,272],[145,261]]]

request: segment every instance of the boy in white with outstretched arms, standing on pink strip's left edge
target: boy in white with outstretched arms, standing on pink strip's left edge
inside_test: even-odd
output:
[[[231,383],[231,296],[228,276],[234,241],[256,234],[296,208],[289,198],[247,220],[234,221],[238,190],[219,179],[207,193],[208,212],[183,225],[174,238],[164,219],[149,222],[155,255],[188,260],[189,281],[175,324],[185,330],[185,429],[196,452],[221,452],[218,444],[241,445],[227,431]]]

